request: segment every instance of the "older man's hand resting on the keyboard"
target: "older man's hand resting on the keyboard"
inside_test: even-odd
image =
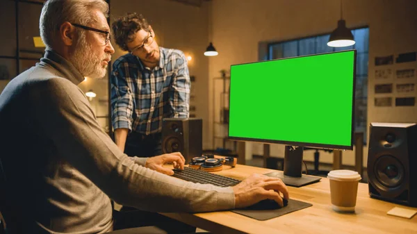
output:
[[[186,159],[179,152],[165,153],[161,156],[148,158],[146,160],[145,167],[153,169],[156,172],[161,172],[163,174],[167,174],[168,176],[172,176],[174,171],[172,171],[172,169],[163,167],[163,165],[171,162],[172,165],[174,165],[174,168],[184,169],[184,163],[186,162]]]

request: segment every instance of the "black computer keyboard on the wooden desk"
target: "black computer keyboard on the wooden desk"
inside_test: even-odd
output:
[[[192,169],[190,167],[184,167],[181,169],[174,169],[174,177],[181,178],[184,181],[191,181],[194,183],[212,184],[219,187],[229,187],[237,185],[241,181],[236,178],[230,178],[227,176],[220,176],[210,172],[205,172],[201,169]]]

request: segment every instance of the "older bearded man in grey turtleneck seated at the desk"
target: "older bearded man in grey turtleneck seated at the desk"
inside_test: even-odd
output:
[[[151,212],[204,212],[282,204],[286,186],[254,175],[234,187],[180,181],[164,162],[129,158],[104,131],[77,87],[100,78],[114,53],[101,0],[49,0],[40,16],[44,58],[0,95],[0,210],[10,233],[105,233],[111,199]],[[162,172],[162,173],[161,173]],[[110,197],[110,198],[109,198]],[[198,198],[198,199],[195,199]]]

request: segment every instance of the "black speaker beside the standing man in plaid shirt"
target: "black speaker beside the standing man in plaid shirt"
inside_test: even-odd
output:
[[[202,156],[202,119],[167,118],[162,122],[163,153],[181,152],[186,163],[191,158]]]

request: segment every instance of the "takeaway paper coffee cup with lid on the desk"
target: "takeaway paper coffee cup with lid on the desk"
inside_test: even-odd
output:
[[[333,210],[354,212],[361,176],[350,170],[334,170],[327,174],[327,178],[330,181]]]

